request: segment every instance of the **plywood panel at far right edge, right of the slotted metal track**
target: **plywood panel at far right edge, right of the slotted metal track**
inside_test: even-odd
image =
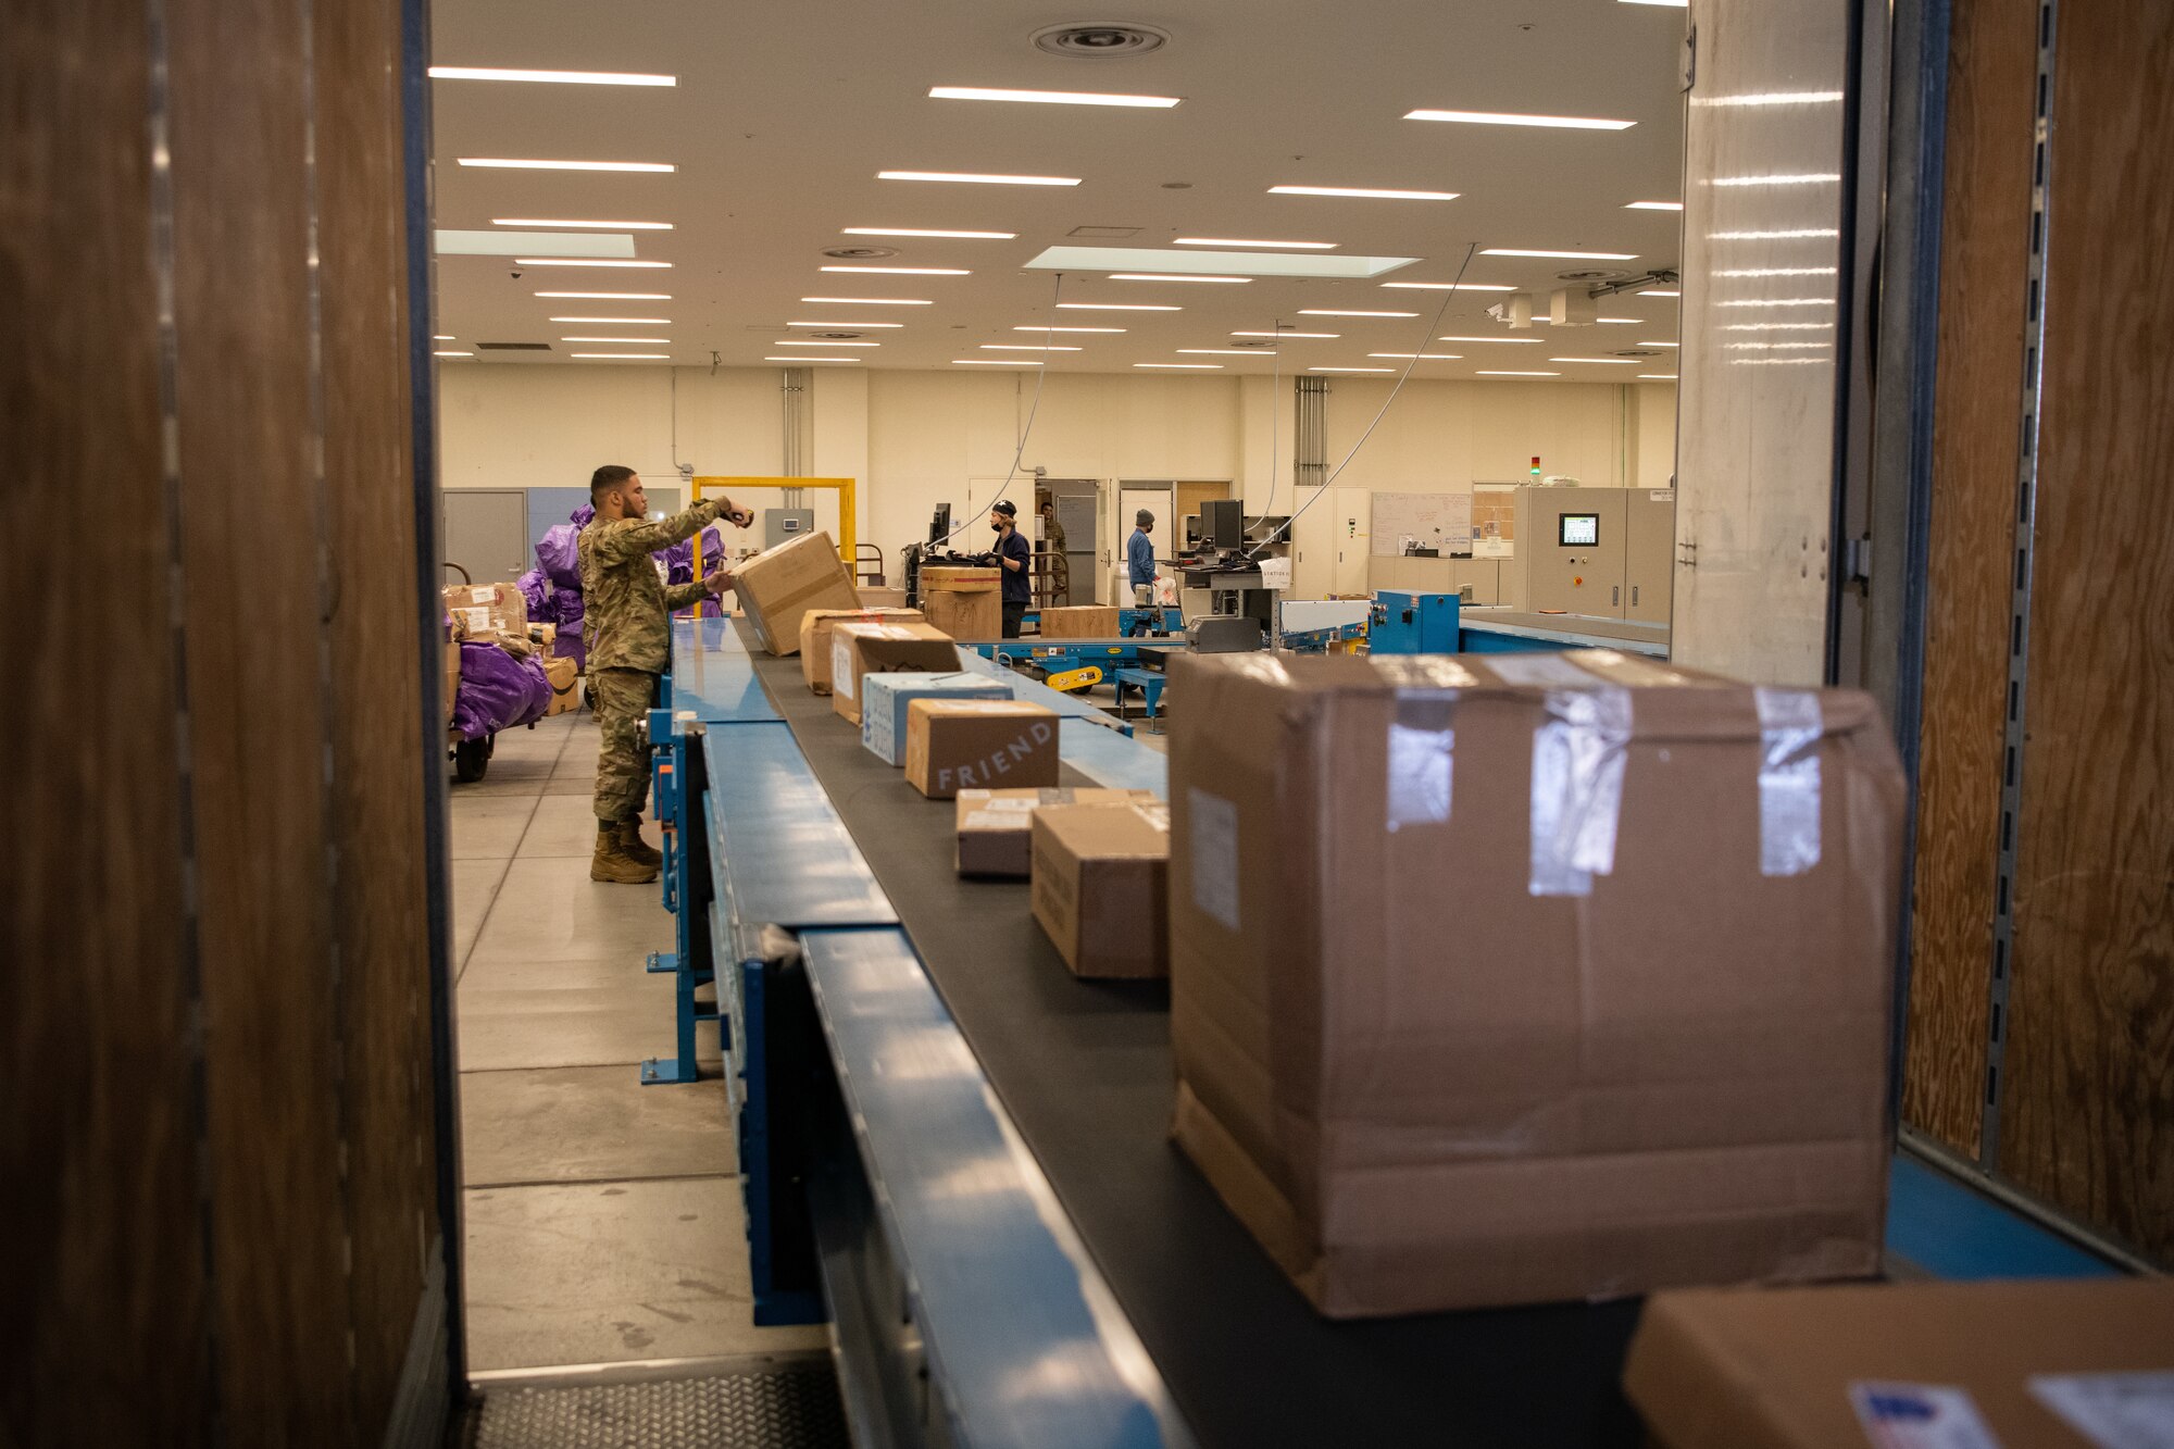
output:
[[[2174,7],[2063,0],[2000,1168],[2174,1262]]]

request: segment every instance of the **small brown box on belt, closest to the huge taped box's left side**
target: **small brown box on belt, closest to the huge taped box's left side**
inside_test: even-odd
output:
[[[1170,975],[1170,809],[1035,812],[1035,920],[1074,977]]]

